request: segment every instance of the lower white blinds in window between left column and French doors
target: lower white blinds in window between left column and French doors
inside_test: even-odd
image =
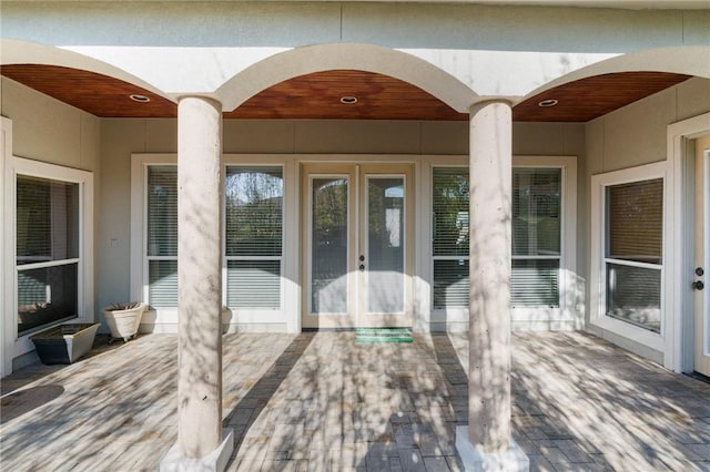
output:
[[[232,308],[281,307],[281,260],[229,260],[226,299]]]

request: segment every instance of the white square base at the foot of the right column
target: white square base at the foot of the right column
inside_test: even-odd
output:
[[[510,438],[510,449],[503,454],[487,454],[468,440],[468,427],[456,427],[456,450],[467,472],[527,472],[530,460]]]

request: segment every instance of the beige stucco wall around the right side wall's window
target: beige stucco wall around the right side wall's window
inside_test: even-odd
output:
[[[592,175],[667,160],[668,125],[710,111],[710,80],[693,78],[673,88],[648,96],[628,106],[611,112],[586,124],[586,175],[590,182]],[[586,195],[584,205],[590,214],[591,189],[579,193]],[[589,235],[590,217],[580,222],[579,234]],[[588,237],[588,236],[587,236]],[[586,258],[590,248],[586,245]],[[587,293],[589,277],[587,271]],[[587,299],[587,314],[589,314]],[[587,322],[589,317],[587,315]],[[662,362],[662,353],[642,347],[632,340],[605,332],[590,325],[592,332],[604,336],[615,343],[632,349],[650,359]]]

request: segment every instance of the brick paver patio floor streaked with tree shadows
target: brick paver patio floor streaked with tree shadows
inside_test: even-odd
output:
[[[710,384],[581,332],[515,334],[513,431],[530,469],[710,471]],[[224,337],[230,471],[456,471],[465,335]],[[2,471],[154,471],[176,439],[176,338],[99,339],[2,379]]]

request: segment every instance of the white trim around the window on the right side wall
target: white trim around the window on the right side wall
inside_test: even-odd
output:
[[[670,178],[668,163],[659,162],[639,167],[626,168],[591,177],[591,258],[590,258],[590,315],[589,322],[597,328],[608,330],[623,338],[633,340],[648,348],[667,352],[669,326],[672,314],[672,284],[668,280],[669,270],[673,266],[672,244],[669,215]],[[606,315],[606,188],[612,185],[643,182],[655,178],[663,179],[663,227],[662,227],[662,265],[661,265],[661,332],[621,321]]]

